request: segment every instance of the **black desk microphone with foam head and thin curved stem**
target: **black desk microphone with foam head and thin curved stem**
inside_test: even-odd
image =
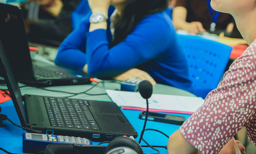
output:
[[[142,140],[144,131],[145,131],[146,121],[147,121],[147,116],[148,116],[148,98],[150,98],[152,93],[153,93],[153,86],[152,86],[152,84],[149,81],[147,81],[147,80],[141,81],[139,83],[139,93],[140,93],[141,97],[146,99],[146,115],[145,115],[144,126],[143,126],[143,129],[142,129],[141,134],[140,134],[140,139],[139,139],[139,143],[140,143],[141,140]]]

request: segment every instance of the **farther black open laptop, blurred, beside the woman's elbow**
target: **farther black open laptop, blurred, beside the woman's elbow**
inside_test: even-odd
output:
[[[0,38],[18,82],[32,86],[91,83],[90,78],[78,70],[31,59],[23,13],[19,7],[0,3],[0,25]]]

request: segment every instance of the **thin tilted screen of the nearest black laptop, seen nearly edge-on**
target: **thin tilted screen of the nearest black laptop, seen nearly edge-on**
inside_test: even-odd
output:
[[[22,126],[26,126],[25,112],[24,112],[23,101],[22,101],[22,93],[20,92],[18,84],[12,73],[10,64],[6,58],[5,50],[4,50],[1,39],[0,39],[0,69],[3,70],[2,74],[5,79],[8,90],[11,94],[14,107],[19,117],[19,121],[22,124]]]

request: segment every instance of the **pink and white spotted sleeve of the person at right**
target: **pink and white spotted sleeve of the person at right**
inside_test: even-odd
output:
[[[256,145],[256,40],[236,59],[204,104],[180,127],[183,137],[203,153],[218,153],[245,126]]]

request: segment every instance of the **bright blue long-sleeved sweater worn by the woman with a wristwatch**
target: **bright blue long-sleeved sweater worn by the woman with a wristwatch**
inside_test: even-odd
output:
[[[113,11],[110,7],[109,17]],[[88,75],[97,78],[138,68],[159,84],[191,91],[187,61],[165,11],[143,18],[124,41],[112,48],[110,22],[107,30],[89,32],[89,17],[61,43],[55,64],[78,70],[88,64]]]

